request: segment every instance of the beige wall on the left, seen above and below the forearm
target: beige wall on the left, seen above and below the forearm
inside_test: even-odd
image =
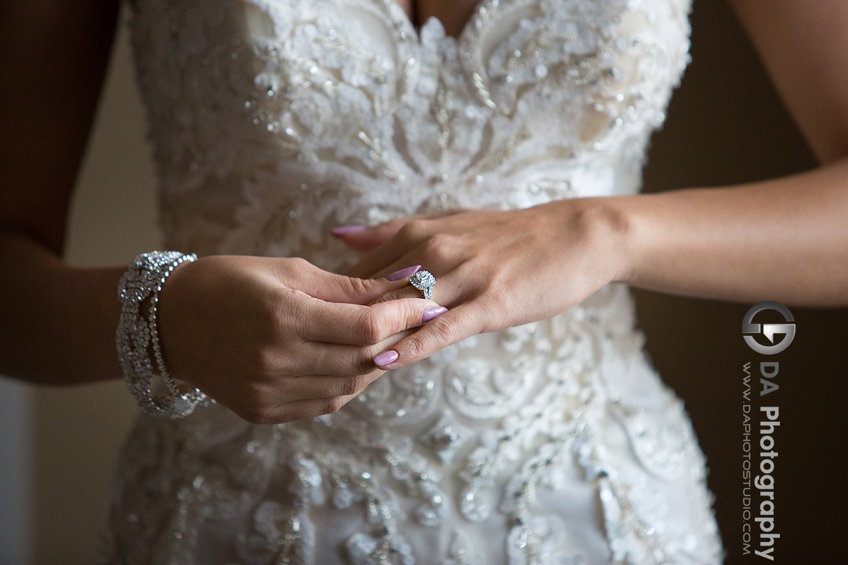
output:
[[[159,246],[143,120],[122,25],[71,210],[66,255],[75,264],[120,265]],[[38,389],[32,411],[36,563],[91,563],[114,459],[137,406],[114,381]]]

